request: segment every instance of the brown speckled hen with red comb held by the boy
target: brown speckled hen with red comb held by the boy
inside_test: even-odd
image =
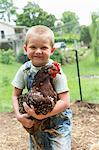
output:
[[[31,91],[18,97],[20,113],[25,113],[23,102],[26,102],[31,108],[33,106],[36,114],[46,115],[48,112],[52,111],[58,100],[58,96],[52,82],[57,73],[60,74],[60,66],[57,62],[53,62],[51,65],[46,65],[37,72],[34,76]],[[30,117],[30,119],[34,118]],[[46,123],[48,123],[48,120],[46,119],[43,121],[37,120],[38,126],[36,126],[36,128],[32,127],[26,130],[32,134],[33,131],[37,130],[39,127],[41,128],[41,125]]]

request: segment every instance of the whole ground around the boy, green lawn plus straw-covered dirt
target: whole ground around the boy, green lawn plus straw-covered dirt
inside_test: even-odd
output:
[[[75,52],[71,53],[74,58]],[[81,52],[78,54],[82,101],[76,60],[62,65],[62,68],[67,76],[73,111],[72,150],[89,150],[99,140],[99,71],[91,50],[83,59]],[[11,81],[21,65],[13,59],[8,64],[0,63],[0,147],[3,150],[28,148],[28,134],[16,120],[11,100]]]

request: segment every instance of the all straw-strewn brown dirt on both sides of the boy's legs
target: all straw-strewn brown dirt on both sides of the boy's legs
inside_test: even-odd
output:
[[[89,150],[99,141],[99,105],[76,102],[73,111],[72,150]],[[14,113],[0,114],[0,150],[27,150],[28,133]]]

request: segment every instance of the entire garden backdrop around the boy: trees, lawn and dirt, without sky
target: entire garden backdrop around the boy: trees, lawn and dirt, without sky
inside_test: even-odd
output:
[[[27,60],[22,48],[24,35],[29,27],[39,24],[53,30],[55,42],[65,43],[66,49],[57,49],[52,59],[62,65],[70,89],[72,150],[99,150],[99,12],[91,13],[92,23],[86,26],[80,25],[79,17],[71,11],[63,12],[59,20],[34,2],[28,1],[21,11],[12,0],[1,0],[1,4],[0,150],[28,149],[28,133],[12,107],[11,81],[24,58]],[[15,28],[6,21],[14,21]],[[6,30],[8,26],[11,30]]]

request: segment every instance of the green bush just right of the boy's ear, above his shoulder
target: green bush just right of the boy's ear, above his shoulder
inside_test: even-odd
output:
[[[53,55],[51,55],[51,59],[59,62],[61,65],[65,63],[65,57],[60,48],[56,49]]]

